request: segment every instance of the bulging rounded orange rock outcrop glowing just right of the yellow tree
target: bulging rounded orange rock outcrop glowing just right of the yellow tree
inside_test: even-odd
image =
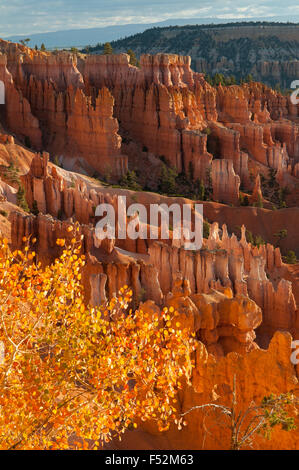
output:
[[[209,352],[221,356],[257,348],[253,330],[262,322],[262,313],[252,300],[242,295],[233,297],[229,288],[223,293],[211,290],[208,294],[190,294],[189,281],[176,277],[166,305],[179,312],[178,319],[197,333]]]

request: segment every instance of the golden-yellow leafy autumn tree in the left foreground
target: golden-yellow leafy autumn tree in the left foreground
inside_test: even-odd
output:
[[[86,307],[78,227],[46,267],[30,240],[0,241],[0,448],[98,448],[140,421],[175,421],[194,339],[172,308],[132,311],[132,291]],[[32,240],[34,242],[35,240]]]

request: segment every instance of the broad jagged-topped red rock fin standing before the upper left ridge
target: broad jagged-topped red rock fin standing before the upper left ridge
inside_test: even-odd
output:
[[[121,155],[114,100],[107,88],[93,100],[80,88],[69,86],[57,93],[50,82],[31,80],[26,94],[32,95],[32,109],[47,129],[46,147],[52,154],[83,158],[90,169],[102,174],[126,173],[127,158]]]

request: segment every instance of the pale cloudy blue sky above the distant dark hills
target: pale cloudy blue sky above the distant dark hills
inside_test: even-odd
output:
[[[298,14],[298,0],[0,0],[0,37],[171,18],[291,20]]]

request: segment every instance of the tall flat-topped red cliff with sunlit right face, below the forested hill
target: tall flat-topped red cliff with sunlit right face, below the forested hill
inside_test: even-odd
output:
[[[179,171],[192,161],[195,177],[205,179],[212,157],[199,130],[217,117],[215,92],[191,71],[187,57],[144,55],[140,62],[139,70],[126,54],[89,56],[79,68],[88,87],[111,89],[116,116],[134,139]]]

